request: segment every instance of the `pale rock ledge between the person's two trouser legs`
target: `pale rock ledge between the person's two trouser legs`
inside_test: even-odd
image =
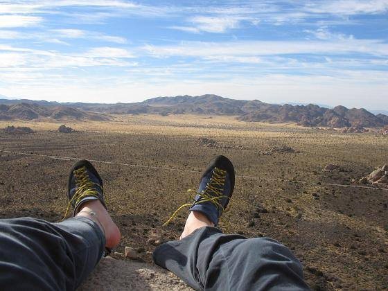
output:
[[[103,258],[78,288],[87,290],[193,290],[173,273],[138,261]]]

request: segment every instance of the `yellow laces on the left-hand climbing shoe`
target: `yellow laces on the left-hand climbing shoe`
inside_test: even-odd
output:
[[[76,178],[77,190],[69,201],[69,204],[67,204],[66,213],[64,213],[64,217],[62,218],[62,220],[67,218],[67,214],[69,213],[69,209],[71,208],[72,202],[75,202],[74,205],[77,205],[78,202],[80,202],[85,197],[94,196],[98,198],[98,191],[94,186],[98,186],[103,189],[100,184],[91,181],[89,175],[87,175],[87,169],[85,167],[79,168],[78,170],[74,170],[73,174]]]

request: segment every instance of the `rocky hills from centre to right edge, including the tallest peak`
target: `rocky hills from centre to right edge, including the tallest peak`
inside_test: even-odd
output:
[[[380,127],[387,125],[388,116],[374,115],[366,109],[348,109],[337,106],[333,109],[318,105],[276,105],[259,100],[233,100],[216,95],[157,97],[145,100],[143,111],[166,113],[200,113],[238,115],[242,121],[270,123],[297,123],[305,126],[324,127]]]

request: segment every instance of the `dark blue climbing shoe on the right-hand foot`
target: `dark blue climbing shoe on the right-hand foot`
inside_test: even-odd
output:
[[[202,174],[200,186],[189,211],[200,211],[218,225],[234,189],[234,168],[227,157],[218,156]]]

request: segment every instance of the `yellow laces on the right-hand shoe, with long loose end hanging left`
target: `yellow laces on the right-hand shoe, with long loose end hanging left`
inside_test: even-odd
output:
[[[187,194],[191,199],[195,200],[196,195],[200,195],[202,199],[200,201],[195,202],[195,204],[200,204],[204,202],[211,202],[213,203],[217,209],[222,209],[224,211],[224,206],[220,203],[220,200],[222,198],[229,198],[227,195],[223,195],[222,191],[224,191],[224,184],[225,184],[225,178],[227,177],[227,171],[222,170],[220,168],[214,168],[213,175],[211,176],[210,181],[208,184],[206,184],[206,188],[202,193],[198,193],[197,191],[194,191],[192,189],[188,189]],[[169,224],[177,215],[179,211],[184,209],[185,207],[191,206],[193,202],[183,204],[182,206],[179,206],[179,208],[171,215],[171,217],[167,220],[163,226],[166,226]]]

